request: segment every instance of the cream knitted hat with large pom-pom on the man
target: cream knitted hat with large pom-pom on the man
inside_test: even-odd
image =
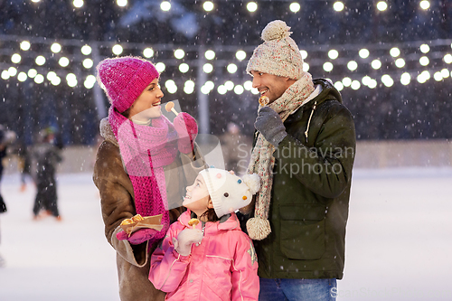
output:
[[[299,80],[303,71],[303,58],[297,43],[290,38],[290,27],[284,21],[272,21],[262,31],[262,40],[253,52],[247,72],[259,71]]]

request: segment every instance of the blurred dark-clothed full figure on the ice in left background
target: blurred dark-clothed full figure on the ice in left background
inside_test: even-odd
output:
[[[39,142],[33,146],[33,163],[36,166],[36,197],[33,205],[33,220],[53,216],[61,221],[58,210],[56,167],[61,162],[60,147],[55,146],[55,129],[47,127],[39,132]]]

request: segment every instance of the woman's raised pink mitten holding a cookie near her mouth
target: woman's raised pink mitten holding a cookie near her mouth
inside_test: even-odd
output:
[[[198,135],[196,120],[188,113],[179,113],[174,118],[174,127],[179,136],[177,146],[179,151],[188,154],[193,151],[193,141]]]

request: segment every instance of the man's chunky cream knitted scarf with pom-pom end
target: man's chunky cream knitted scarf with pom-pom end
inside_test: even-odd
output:
[[[314,83],[310,73],[305,72],[300,80],[297,80],[281,95],[279,99],[270,103],[268,107],[274,109],[284,122],[287,117],[301,105],[314,91]],[[260,108],[260,107],[259,107]],[[252,240],[263,240],[271,232],[268,221],[271,187],[273,184],[273,166],[275,157],[272,146],[265,137],[259,133],[256,146],[251,154],[250,165],[247,174],[259,174],[261,179],[260,191],[256,195],[254,217],[247,221],[247,230]]]

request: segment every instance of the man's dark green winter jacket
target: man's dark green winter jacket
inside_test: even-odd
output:
[[[274,153],[271,233],[255,241],[260,277],[343,277],[354,124],[334,86],[314,83],[322,92],[287,118]]]

